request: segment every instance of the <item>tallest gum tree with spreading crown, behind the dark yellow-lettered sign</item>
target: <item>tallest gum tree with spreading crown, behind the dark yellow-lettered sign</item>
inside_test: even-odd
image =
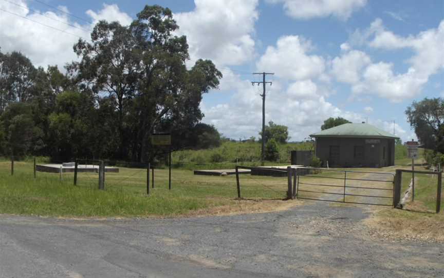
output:
[[[178,28],[170,9],[145,6],[130,26],[101,21],[91,42],[74,46],[81,61],[69,73],[82,91],[107,94],[117,110],[117,158],[151,159],[153,131],[195,125],[203,116],[202,93],[219,84],[222,75],[211,61],[187,69],[187,39],[174,35]]]

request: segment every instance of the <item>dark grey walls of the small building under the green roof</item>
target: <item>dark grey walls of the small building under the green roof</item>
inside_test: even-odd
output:
[[[339,157],[331,147],[339,147]],[[336,147],[336,148],[337,148]],[[333,147],[335,148],[335,147]],[[335,151],[333,151],[335,152]],[[395,140],[380,138],[316,138],[316,155],[326,166],[384,167],[395,164]]]

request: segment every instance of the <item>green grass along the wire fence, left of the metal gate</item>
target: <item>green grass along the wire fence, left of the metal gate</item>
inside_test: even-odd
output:
[[[173,169],[168,190],[168,170],[155,171],[155,188],[146,195],[146,170],[120,168],[106,173],[106,190],[98,190],[98,174],[37,172],[32,163],[0,162],[0,213],[51,216],[149,216],[187,214],[200,209],[232,205],[237,197],[234,176],[200,176]],[[254,178],[241,175],[242,195],[249,198],[284,198],[286,177]]]

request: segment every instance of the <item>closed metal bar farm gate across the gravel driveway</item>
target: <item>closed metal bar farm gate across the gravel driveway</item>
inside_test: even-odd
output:
[[[395,174],[298,168],[295,178],[299,199],[394,206]]]

